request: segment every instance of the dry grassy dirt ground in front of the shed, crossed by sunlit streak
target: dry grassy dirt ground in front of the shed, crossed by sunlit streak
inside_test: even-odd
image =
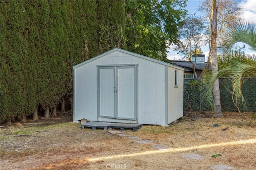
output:
[[[72,113],[5,125],[0,131],[1,170],[210,170],[223,164],[238,170],[256,167],[256,122],[252,113],[184,113],[169,127],[143,125],[124,130],[140,144],[103,129],[81,129]],[[218,123],[219,127],[213,127]],[[118,130],[118,129],[114,129]],[[166,149],[156,149],[160,145]],[[216,158],[212,155],[220,153]],[[200,154],[202,159],[184,158]]]

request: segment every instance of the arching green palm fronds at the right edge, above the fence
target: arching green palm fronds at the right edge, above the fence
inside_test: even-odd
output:
[[[256,51],[256,24],[250,21],[240,22],[240,24],[231,27],[224,38],[225,42],[223,43],[223,49],[226,52],[232,50],[232,46],[237,42],[243,42],[248,44],[254,51]],[[256,64],[248,65],[243,64],[238,61],[234,61],[230,66],[218,70],[218,72],[212,73],[212,76],[206,78],[206,81],[203,85],[203,89],[206,90],[206,93],[203,96],[209,105],[213,106],[214,99],[212,95],[212,89],[214,87],[215,80],[218,80],[219,77],[225,76],[228,77],[228,80],[232,85],[232,99],[234,105],[237,107],[239,113],[240,109],[238,103],[242,104],[246,108],[246,102],[242,94],[242,78],[245,75],[256,76]]]

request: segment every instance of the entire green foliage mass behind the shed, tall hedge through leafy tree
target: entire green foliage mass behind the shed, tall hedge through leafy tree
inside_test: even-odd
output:
[[[0,1],[1,122],[72,96],[72,67],[114,47],[166,59],[186,1]]]

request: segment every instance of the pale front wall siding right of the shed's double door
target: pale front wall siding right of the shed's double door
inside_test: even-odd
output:
[[[134,58],[138,66],[138,121],[143,124],[165,124],[165,66]]]

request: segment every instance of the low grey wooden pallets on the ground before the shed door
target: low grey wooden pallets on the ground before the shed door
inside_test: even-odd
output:
[[[103,128],[103,129],[118,128],[121,131],[124,129],[132,129],[133,131],[136,131],[142,127],[142,124],[89,121],[81,125],[82,129],[84,129],[84,127],[92,127],[93,130],[95,130],[96,128]]]

